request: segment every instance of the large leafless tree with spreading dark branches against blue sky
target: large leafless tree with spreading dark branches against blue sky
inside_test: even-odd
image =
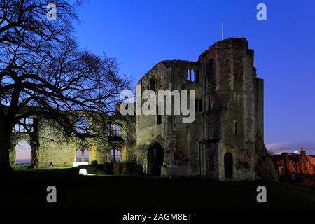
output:
[[[118,76],[116,59],[78,49],[71,36],[71,20],[77,20],[75,7],[55,1],[57,20],[50,21],[46,18],[48,3],[0,0],[2,175],[12,172],[13,127],[21,119],[51,120],[66,137],[97,137],[103,133],[80,132],[78,119],[87,116],[92,123],[111,119],[119,93],[129,85],[127,78]]]

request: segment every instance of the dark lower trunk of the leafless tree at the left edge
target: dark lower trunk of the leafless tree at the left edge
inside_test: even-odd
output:
[[[6,177],[13,174],[13,169],[10,165],[10,134],[0,133],[0,176]]]

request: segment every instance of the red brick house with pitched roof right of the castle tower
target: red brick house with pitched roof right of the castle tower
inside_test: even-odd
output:
[[[315,174],[315,155],[307,155],[301,148],[300,154],[281,153],[270,155],[280,176],[287,174]]]

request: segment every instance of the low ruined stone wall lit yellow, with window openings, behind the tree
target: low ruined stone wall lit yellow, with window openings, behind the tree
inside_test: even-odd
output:
[[[111,162],[111,146],[121,146],[122,161],[131,160],[134,155],[135,141],[135,118],[127,120],[118,120],[122,122],[121,137],[116,140],[107,139],[104,131],[104,141],[97,138],[89,138],[84,142],[75,137],[65,137],[60,131],[56,123],[52,120],[39,119],[38,123],[34,124],[34,130],[38,130],[37,139],[31,139],[27,133],[15,133],[13,135],[13,144],[10,150],[10,163],[15,165],[15,146],[22,139],[31,145],[32,141],[36,141],[36,158],[38,167],[49,167],[50,164],[54,167],[72,166],[76,162],[76,151],[78,149],[88,150],[89,163],[97,160],[99,164]],[[126,123],[126,121],[128,121]],[[36,127],[35,127],[36,125]],[[107,127],[100,127],[99,130],[105,130]],[[34,155],[31,156],[33,158]]]

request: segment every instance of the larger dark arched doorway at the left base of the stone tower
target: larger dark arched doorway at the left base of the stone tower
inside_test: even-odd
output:
[[[152,144],[148,149],[148,174],[161,175],[161,167],[164,161],[164,152],[160,144]]]

